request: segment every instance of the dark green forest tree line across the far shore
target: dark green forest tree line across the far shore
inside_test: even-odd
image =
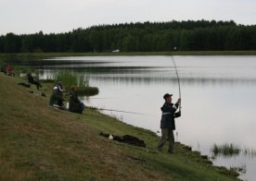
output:
[[[7,33],[0,53],[160,52],[256,50],[256,25],[234,21],[187,20],[123,23],[65,33]]]

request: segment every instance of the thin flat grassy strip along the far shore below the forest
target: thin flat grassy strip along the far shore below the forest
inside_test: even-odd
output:
[[[0,54],[0,58],[47,58],[57,56],[100,56],[100,55],[256,55],[256,51],[175,51],[175,52],[120,52],[120,53],[20,53]]]

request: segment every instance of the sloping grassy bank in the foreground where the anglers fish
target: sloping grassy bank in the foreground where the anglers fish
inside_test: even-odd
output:
[[[25,82],[0,74],[0,180],[236,180],[196,151],[176,144],[174,154],[155,151],[159,138],[87,109],[83,115],[47,106],[47,97]],[[33,90],[35,93],[30,93]],[[145,140],[138,150],[99,132]]]

